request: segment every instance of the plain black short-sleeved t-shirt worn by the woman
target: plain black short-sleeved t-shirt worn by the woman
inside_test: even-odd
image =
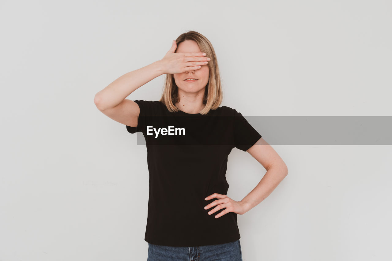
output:
[[[234,147],[246,151],[261,135],[240,112],[227,106],[202,115],[170,112],[161,101],[134,102],[140,107],[138,126],[126,127],[130,133],[143,133],[149,170],[144,240],[155,245],[203,246],[240,239],[237,214],[215,218],[225,208],[209,215],[216,206],[204,207],[218,198],[204,198],[215,192],[227,194],[227,156]]]

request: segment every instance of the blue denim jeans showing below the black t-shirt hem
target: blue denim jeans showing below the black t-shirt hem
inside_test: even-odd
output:
[[[218,245],[161,246],[148,243],[147,261],[242,261],[240,239]]]

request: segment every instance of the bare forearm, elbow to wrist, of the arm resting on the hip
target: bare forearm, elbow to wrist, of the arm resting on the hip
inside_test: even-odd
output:
[[[286,165],[270,167],[257,186],[241,200],[241,202],[244,203],[246,207],[246,212],[267,198],[272,193],[272,191],[278,187],[279,183],[287,176],[287,173]]]

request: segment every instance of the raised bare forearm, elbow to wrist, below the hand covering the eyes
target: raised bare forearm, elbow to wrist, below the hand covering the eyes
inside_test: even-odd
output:
[[[129,94],[162,74],[160,60],[135,71],[127,72],[95,94],[94,103],[100,110],[116,107]]]

